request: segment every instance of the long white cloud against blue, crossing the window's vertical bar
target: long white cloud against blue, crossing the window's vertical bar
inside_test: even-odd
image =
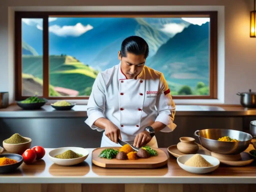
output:
[[[38,29],[42,30],[42,27],[40,25],[36,26]],[[93,29],[93,27],[88,24],[86,26],[82,25],[81,23],[77,23],[76,25],[64,25],[60,27],[59,25],[51,25],[49,26],[49,32],[54,33],[57,36],[60,37],[79,37],[82,34],[86,33],[87,31]]]

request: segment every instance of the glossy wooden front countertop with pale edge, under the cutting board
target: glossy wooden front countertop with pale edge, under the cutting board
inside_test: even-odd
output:
[[[253,149],[250,144],[246,151]],[[168,166],[157,169],[107,169],[97,167],[91,163],[91,152],[79,166],[59,166],[53,164],[46,149],[43,159],[33,165],[23,163],[15,173],[0,174],[0,183],[201,183],[201,184],[225,184],[230,183],[255,183],[256,161],[244,167],[229,167],[220,165],[212,173],[197,175],[186,172],[177,164],[176,158],[166,152]]]

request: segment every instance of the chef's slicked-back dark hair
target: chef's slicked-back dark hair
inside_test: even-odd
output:
[[[123,40],[121,45],[121,57],[126,57],[126,54],[144,55],[148,57],[149,48],[147,42],[139,36],[130,36]]]

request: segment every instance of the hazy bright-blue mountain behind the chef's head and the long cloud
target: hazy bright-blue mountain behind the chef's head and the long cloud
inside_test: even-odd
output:
[[[121,42],[128,36],[143,37],[150,46],[150,56],[153,56],[158,47],[170,38],[161,30],[154,29],[143,18],[58,18],[50,22],[49,27],[74,26],[77,23],[84,26],[90,24],[93,29],[79,37],[61,37],[49,33],[50,55],[71,55],[90,66],[96,65],[101,70],[109,68],[105,63],[111,63],[111,67],[118,64]],[[23,22],[22,31],[23,40],[42,55],[42,30],[36,25],[27,25]]]

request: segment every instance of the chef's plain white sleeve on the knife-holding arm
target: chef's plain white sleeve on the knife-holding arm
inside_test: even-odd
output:
[[[94,125],[94,122],[99,118],[105,118],[105,83],[102,74],[99,73],[93,83],[92,93],[87,104],[87,116],[85,123],[93,130],[103,131],[103,129]]]

